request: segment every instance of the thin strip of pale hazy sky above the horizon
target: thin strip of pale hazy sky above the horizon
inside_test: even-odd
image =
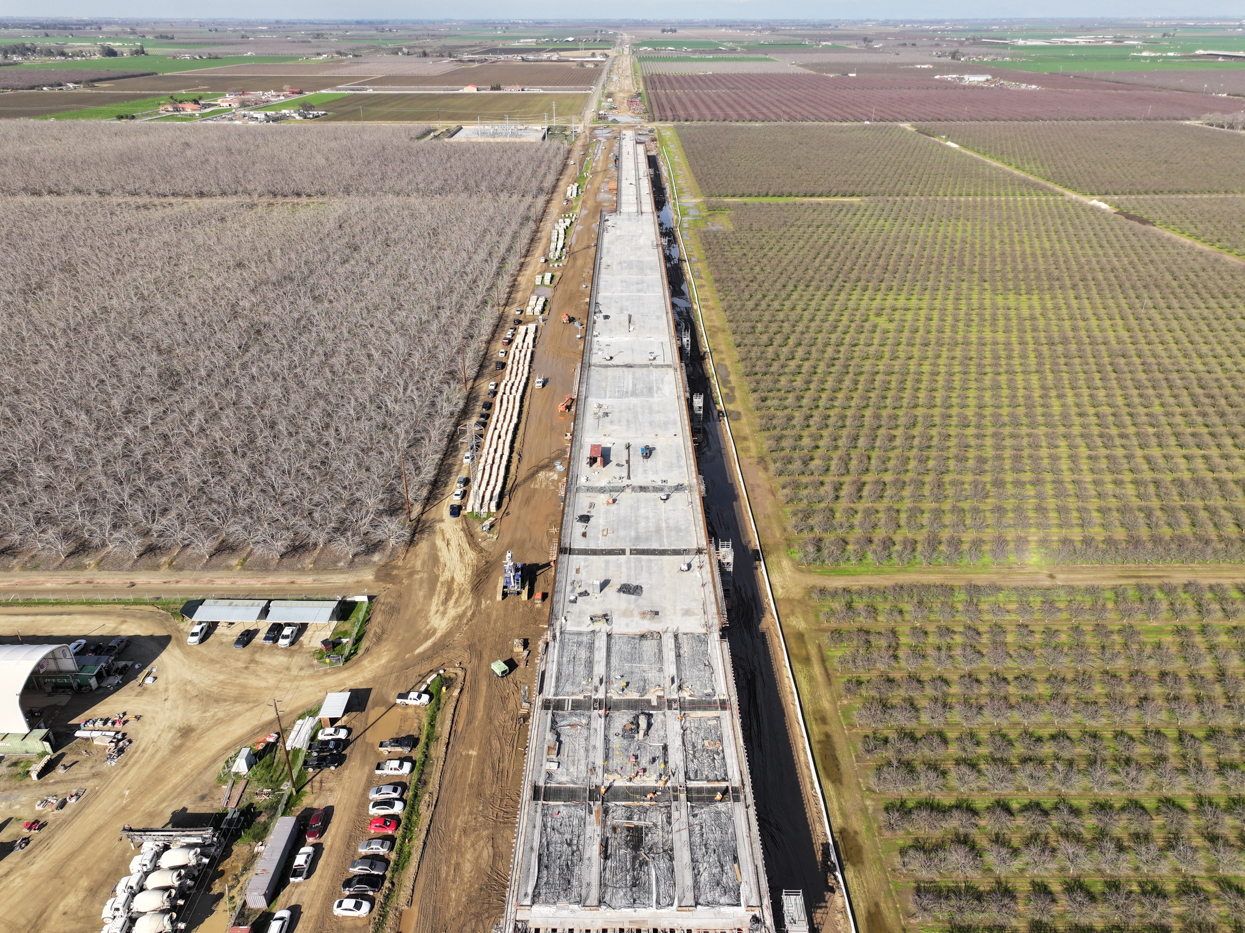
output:
[[[1245,0],[634,0],[590,6],[576,0],[0,0],[7,16],[123,16],[237,19],[962,19],[962,17],[1195,17],[1245,19]]]

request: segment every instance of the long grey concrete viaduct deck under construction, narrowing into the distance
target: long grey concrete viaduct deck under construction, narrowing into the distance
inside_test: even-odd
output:
[[[601,217],[507,931],[774,928],[649,159]]]

